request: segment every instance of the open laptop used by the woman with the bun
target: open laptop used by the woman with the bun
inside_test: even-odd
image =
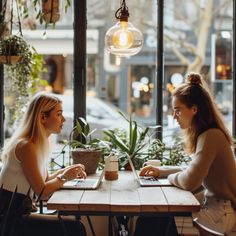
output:
[[[140,184],[141,187],[155,187],[155,186],[171,186],[171,183],[167,178],[156,178],[156,177],[146,177],[146,176],[139,176],[137,171],[134,168],[134,164],[128,156],[128,161],[130,164],[130,167],[132,169],[132,172],[134,174],[135,179]]]

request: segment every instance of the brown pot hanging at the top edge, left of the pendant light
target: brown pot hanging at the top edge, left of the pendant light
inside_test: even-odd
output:
[[[59,0],[42,0],[42,12],[45,22],[57,22],[60,19]]]

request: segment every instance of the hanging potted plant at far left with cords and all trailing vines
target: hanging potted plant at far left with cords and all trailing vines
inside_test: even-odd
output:
[[[14,18],[13,9],[17,11]],[[41,79],[41,73],[45,72],[43,56],[37,54],[36,50],[23,38],[18,0],[5,1],[0,14],[4,19],[0,24],[0,58],[5,64],[4,97],[9,114],[7,125],[11,130],[11,126],[22,116],[28,97],[43,89],[48,83]],[[15,16],[17,16],[17,22],[15,22]],[[13,23],[18,29],[17,34],[12,34]],[[16,60],[16,57],[19,59]]]

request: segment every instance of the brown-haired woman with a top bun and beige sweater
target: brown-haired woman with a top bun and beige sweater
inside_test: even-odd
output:
[[[192,160],[186,169],[175,170],[176,173],[146,166],[140,175],[168,176],[171,184],[193,193],[203,186],[202,210],[193,217],[206,227],[228,235],[236,223],[233,139],[200,74],[188,74],[187,81],[173,91],[172,109]]]

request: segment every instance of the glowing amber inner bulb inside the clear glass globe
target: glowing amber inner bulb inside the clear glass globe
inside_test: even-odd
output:
[[[113,44],[117,48],[127,49],[134,43],[133,33],[128,29],[128,22],[120,22],[120,30],[117,30],[112,38]]]

